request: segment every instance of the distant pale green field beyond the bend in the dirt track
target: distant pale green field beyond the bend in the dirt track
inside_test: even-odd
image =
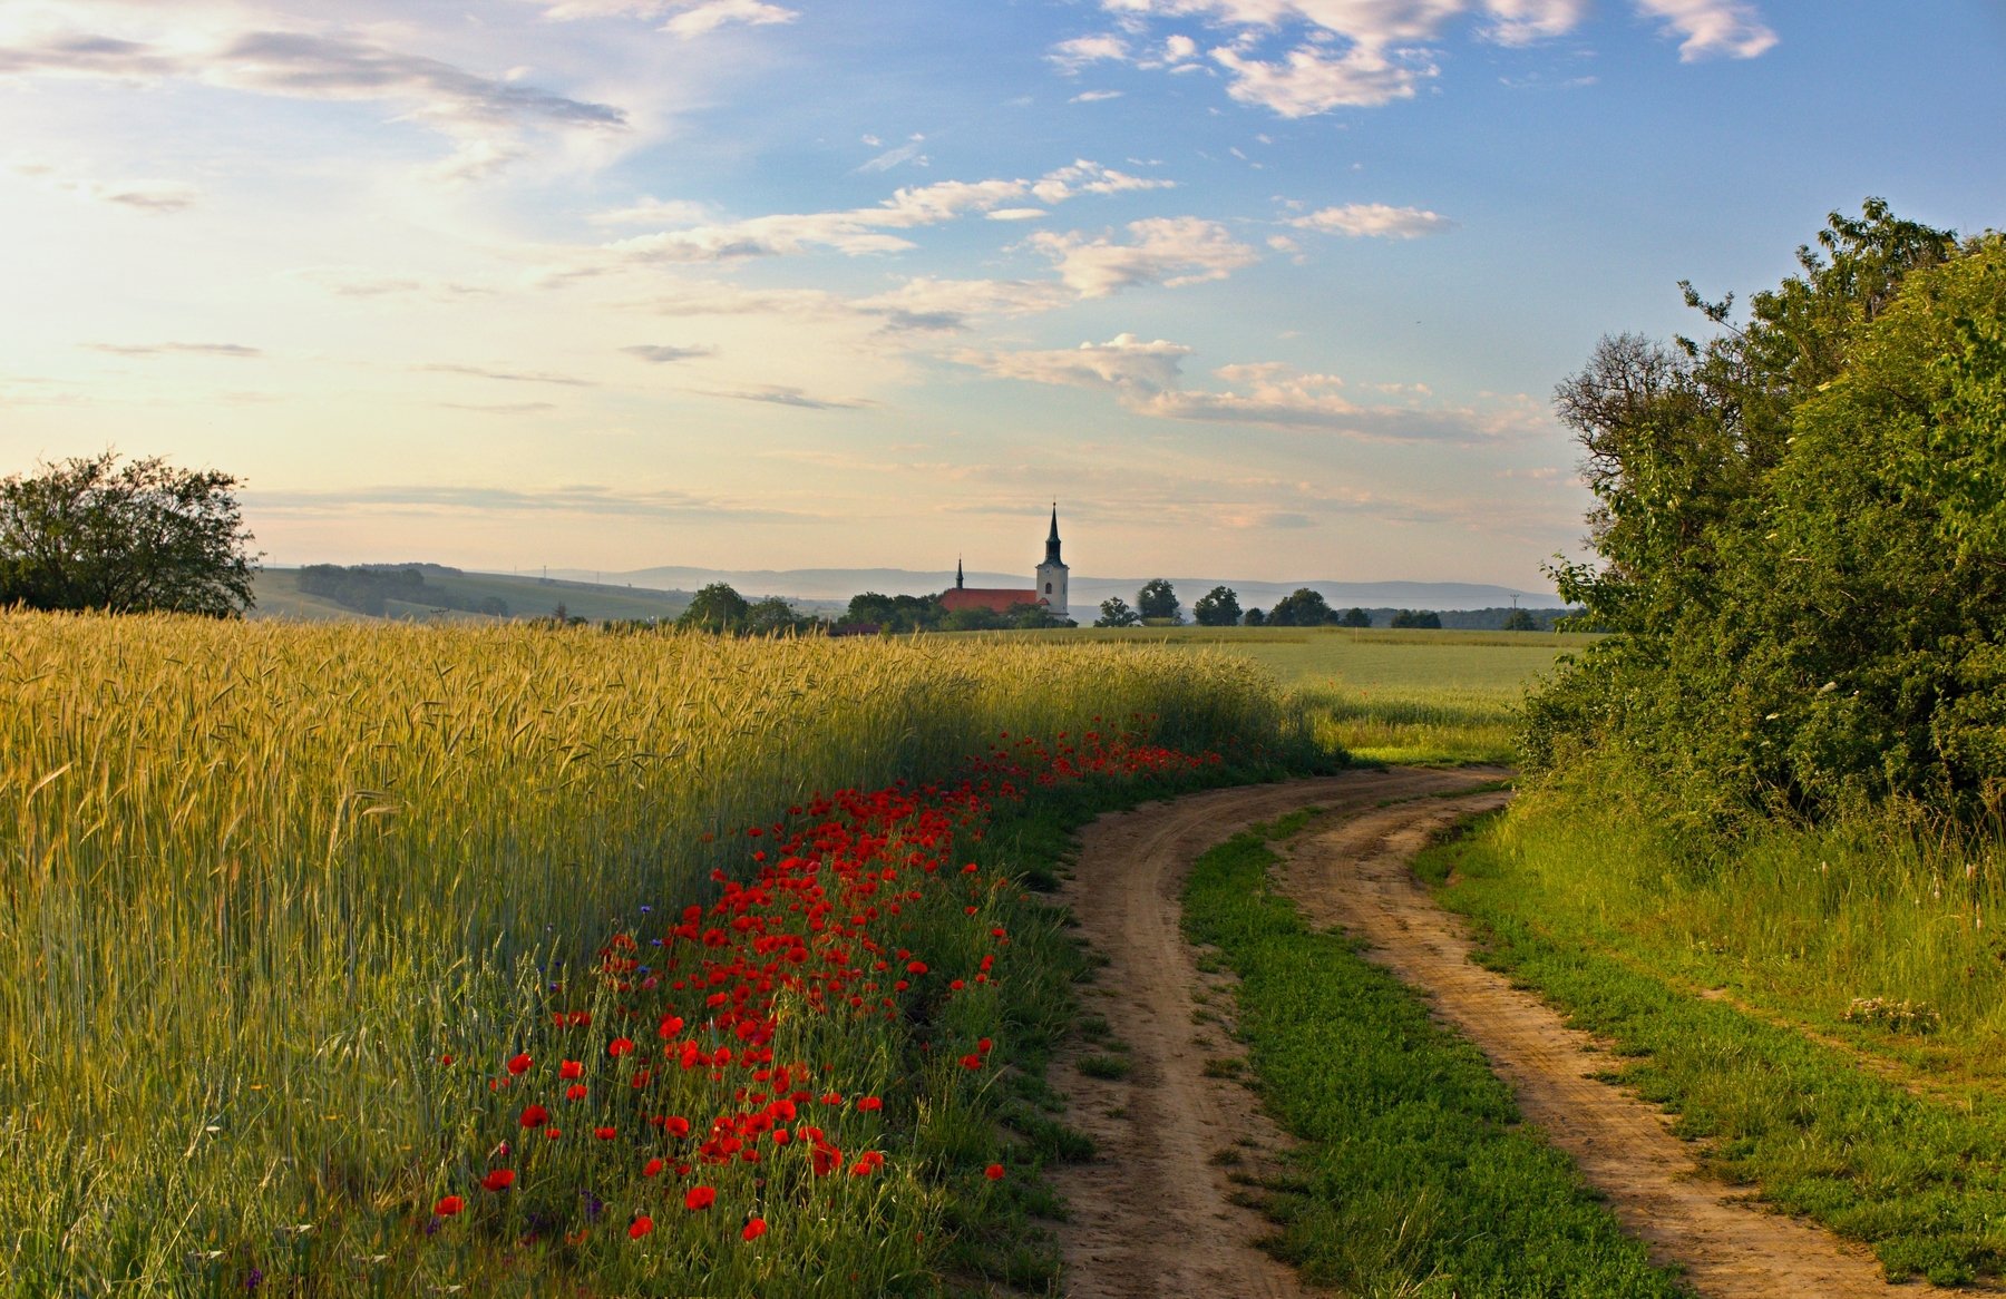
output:
[[[1513,762],[1519,702],[1593,635],[1346,627],[1135,627],[1041,631],[1250,658],[1290,692],[1326,746],[1364,762]]]

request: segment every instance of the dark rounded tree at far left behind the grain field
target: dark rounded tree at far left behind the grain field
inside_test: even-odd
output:
[[[116,451],[0,481],[0,607],[241,617],[257,555],[237,487]]]

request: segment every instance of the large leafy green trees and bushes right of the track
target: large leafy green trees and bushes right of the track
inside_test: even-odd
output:
[[[1681,814],[2006,800],[2006,243],[1880,200],[1799,275],[1665,347],[1603,339],[1557,391],[1613,635],[1535,696],[1535,768],[1641,766]]]

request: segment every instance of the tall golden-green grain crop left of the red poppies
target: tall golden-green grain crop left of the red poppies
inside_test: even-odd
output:
[[[367,1269],[459,1157],[441,1046],[504,1058],[548,970],[816,790],[1095,716],[1288,730],[1240,662],[939,639],[6,615],[0,684],[16,1293],[185,1291],[245,1239]]]

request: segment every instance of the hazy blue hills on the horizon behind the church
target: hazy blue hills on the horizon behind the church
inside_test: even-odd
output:
[[[578,577],[576,569],[566,577]],[[786,595],[790,599],[828,599],[847,603],[861,591],[883,595],[929,595],[955,585],[953,569],[704,569],[704,567],[648,567],[632,573],[612,573],[620,581],[636,587],[664,587],[694,591],[712,581],[728,581],[740,595]],[[969,573],[967,583],[979,587],[1021,587],[1029,573]],[[1135,603],[1135,591],[1147,577],[1083,577],[1073,575],[1071,615],[1079,621],[1093,621],[1099,603],[1109,595]],[[1240,607],[1268,609],[1276,599],[1298,587],[1318,591],[1334,609],[1492,609],[1509,611],[1513,597],[1527,607],[1559,607],[1553,591],[1515,591],[1500,585],[1480,585],[1468,581],[1250,581],[1244,577],[1172,577],[1178,597],[1184,601],[1186,617],[1200,595],[1216,585],[1232,587],[1240,595]],[[1384,619],[1380,619],[1384,623]]]

